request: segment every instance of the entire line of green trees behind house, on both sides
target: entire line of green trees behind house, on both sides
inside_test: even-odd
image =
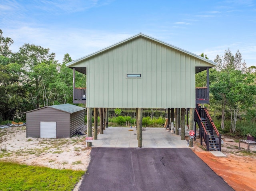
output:
[[[72,61],[70,55],[59,63],[48,48],[25,43],[12,52],[12,43],[0,30],[0,122],[26,120],[24,112],[43,106],[72,104],[72,70],[65,65]],[[208,108],[219,116],[222,129],[228,119],[236,132],[237,120],[256,120],[256,67],[246,67],[239,50],[233,54],[228,49],[214,62]],[[86,87],[86,75],[76,73],[76,86]],[[196,74],[196,87],[206,87],[206,71]]]

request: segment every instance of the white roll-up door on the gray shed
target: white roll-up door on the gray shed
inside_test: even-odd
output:
[[[40,122],[40,138],[56,138],[56,122]]]

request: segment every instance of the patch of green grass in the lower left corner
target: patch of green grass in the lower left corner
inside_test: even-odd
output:
[[[84,173],[0,162],[0,190],[71,191]]]

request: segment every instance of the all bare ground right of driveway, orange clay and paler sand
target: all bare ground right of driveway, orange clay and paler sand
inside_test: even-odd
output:
[[[194,152],[234,190],[256,191],[256,146],[250,146],[250,152],[247,152],[247,144],[241,143],[239,150],[239,143],[225,137],[223,140],[222,153],[227,157],[215,157],[204,151],[200,140],[194,144]]]

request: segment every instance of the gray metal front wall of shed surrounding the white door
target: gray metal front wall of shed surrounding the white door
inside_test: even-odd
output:
[[[70,114],[50,107],[26,113],[27,137],[40,137],[40,122],[57,122],[57,138],[70,137]]]

